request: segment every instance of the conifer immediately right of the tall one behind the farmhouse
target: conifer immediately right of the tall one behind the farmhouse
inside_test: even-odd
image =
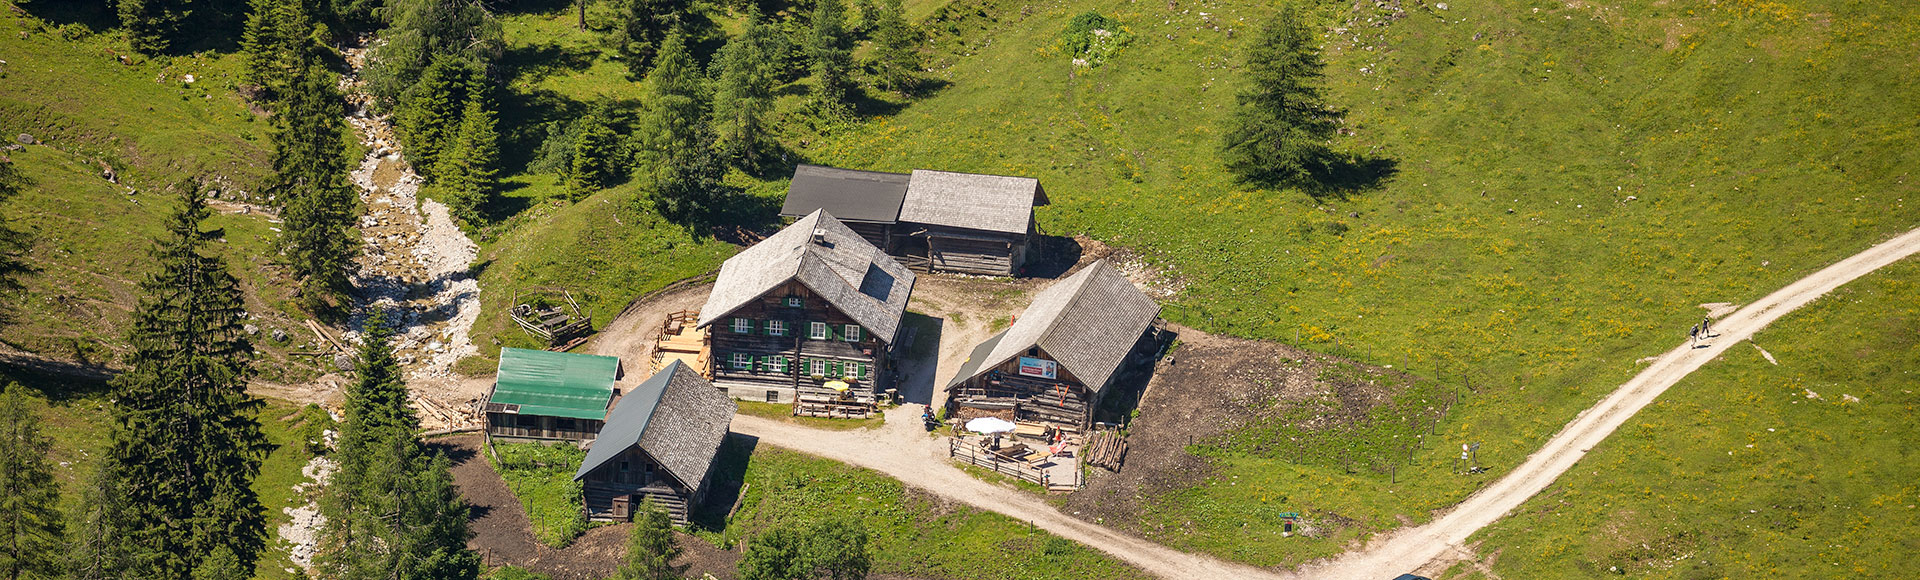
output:
[[[720,48],[720,73],[714,88],[714,148],[735,167],[756,171],[772,154],[774,136],[766,115],[774,111],[774,86],[780,83],[780,56],[787,54],[787,38],[760,17],[756,4],[747,4],[747,31]]]

